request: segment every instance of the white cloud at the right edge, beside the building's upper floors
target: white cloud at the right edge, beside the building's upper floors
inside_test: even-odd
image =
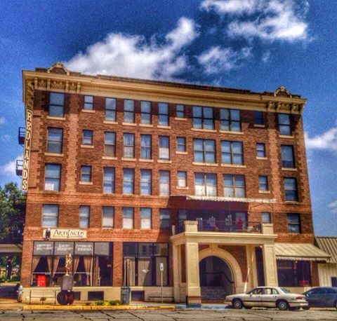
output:
[[[308,133],[305,132],[305,146],[308,149],[337,151],[337,127],[330,128],[314,137],[309,137]]]

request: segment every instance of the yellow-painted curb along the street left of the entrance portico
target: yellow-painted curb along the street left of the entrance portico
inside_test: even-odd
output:
[[[97,310],[173,310],[175,306],[48,306],[29,305],[22,310],[67,310],[67,311],[97,311]]]

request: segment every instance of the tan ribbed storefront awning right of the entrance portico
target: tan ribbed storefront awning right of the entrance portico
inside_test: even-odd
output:
[[[275,243],[276,259],[327,261],[330,255],[309,243]]]

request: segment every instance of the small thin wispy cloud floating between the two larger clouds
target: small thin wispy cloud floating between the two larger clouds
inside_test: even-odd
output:
[[[197,57],[206,74],[218,74],[239,67],[240,62],[251,55],[251,48],[234,51],[232,48],[214,46]]]

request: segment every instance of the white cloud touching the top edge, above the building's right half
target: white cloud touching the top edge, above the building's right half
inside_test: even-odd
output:
[[[201,8],[235,19],[227,26],[230,36],[267,41],[308,39],[306,0],[204,0]]]

